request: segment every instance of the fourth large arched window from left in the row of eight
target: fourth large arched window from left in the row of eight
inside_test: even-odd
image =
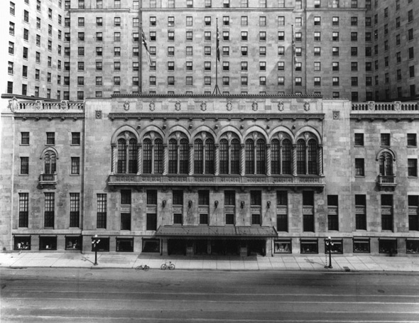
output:
[[[199,133],[194,141],[194,173],[214,174],[214,140],[209,133]]]

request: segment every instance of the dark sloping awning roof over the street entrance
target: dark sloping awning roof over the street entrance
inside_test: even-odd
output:
[[[168,238],[275,238],[273,226],[160,226],[156,236]]]

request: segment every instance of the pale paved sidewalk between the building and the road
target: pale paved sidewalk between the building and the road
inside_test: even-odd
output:
[[[277,256],[277,257],[187,257],[154,256],[143,254],[98,253],[0,253],[0,267],[6,268],[136,268],[148,265],[160,268],[165,261],[172,261],[180,270],[317,270],[317,271],[399,271],[419,272],[419,257],[386,256],[332,256],[333,268],[325,268],[324,255]],[[328,261],[328,258],[327,258]],[[327,263],[328,264],[328,263]]]

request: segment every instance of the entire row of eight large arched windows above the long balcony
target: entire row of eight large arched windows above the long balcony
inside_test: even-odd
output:
[[[215,143],[202,131],[192,143],[182,133],[169,138],[168,144],[156,132],[143,136],[138,143],[126,131],[117,139],[117,153],[112,153],[112,173],[208,174],[208,175],[320,175],[322,152],[317,138],[305,133],[295,144],[288,136],[278,136],[270,143],[253,132],[241,144],[234,133],[227,133]],[[113,148],[115,149],[115,148]]]

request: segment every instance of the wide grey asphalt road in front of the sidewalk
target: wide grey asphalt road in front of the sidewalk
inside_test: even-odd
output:
[[[1,322],[419,322],[419,275],[1,270]]]

